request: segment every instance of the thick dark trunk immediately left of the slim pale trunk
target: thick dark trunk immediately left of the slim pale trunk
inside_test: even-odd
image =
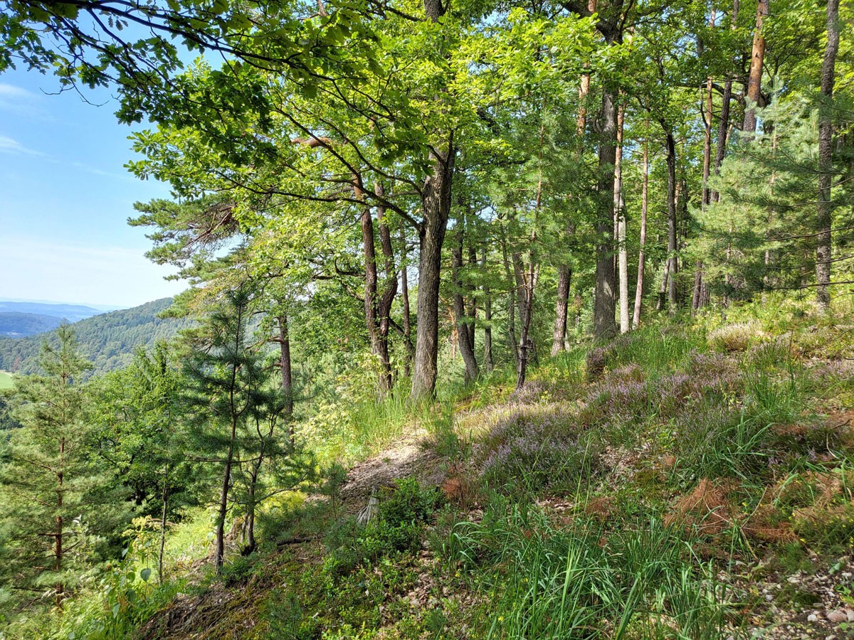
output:
[[[617,160],[617,106],[615,91],[602,90],[599,145],[599,207],[596,214],[596,281],[594,291],[594,336],[611,338],[617,332],[614,315],[617,292],[614,272],[614,167]]]

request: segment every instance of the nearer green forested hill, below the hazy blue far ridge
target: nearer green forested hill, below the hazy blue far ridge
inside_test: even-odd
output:
[[[191,320],[157,317],[171,304],[171,298],[163,298],[73,323],[80,352],[92,361],[97,373],[125,366],[137,345],[150,346],[157,340],[168,340],[180,329],[192,325]],[[0,337],[0,369],[36,373],[42,340],[54,337],[53,331],[25,338]]]

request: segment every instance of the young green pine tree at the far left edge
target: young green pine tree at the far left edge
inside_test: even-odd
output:
[[[91,427],[84,422],[83,377],[90,364],[62,325],[45,341],[44,375],[17,379],[9,439],[0,468],[4,578],[52,595],[56,605],[79,585],[126,516],[120,487],[97,467]],[[4,580],[5,581],[5,580]],[[38,599],[37,597],[37,599]]]

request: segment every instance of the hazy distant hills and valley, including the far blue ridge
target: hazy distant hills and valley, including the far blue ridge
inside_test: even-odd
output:
[[[38,372],[42,341],[52,340],[63,317],[73,323],[79,350],[94,364],[96,373],[119,369],[131,361],[137,346],[169,340],[180,329],[192,325],[187,319],[158,317],[171,304],[171,298],[162,298],[132,309],[104,313],[81,305],[0,302],[0,370]],[[45,311],[64,315],[57,317]]]

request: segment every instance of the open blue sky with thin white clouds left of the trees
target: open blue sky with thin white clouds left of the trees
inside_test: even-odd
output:
[[[166,185],[124,168],[132,128],[106,90],[87,104],[52,76],[0,74],[0,300],[127,307],[185,288],[143,256],[145,230],[126,220]],[[137,128],[142,128],[139,125]]]

